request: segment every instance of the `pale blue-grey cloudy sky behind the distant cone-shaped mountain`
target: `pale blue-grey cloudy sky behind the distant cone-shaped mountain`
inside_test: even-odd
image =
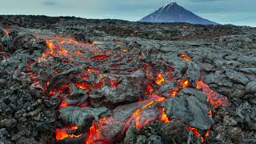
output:
[[[44,14],[138,21],[169,0],[0,0],[0,14]],[[256,0],[174,0],[221,24],[256,26]]]

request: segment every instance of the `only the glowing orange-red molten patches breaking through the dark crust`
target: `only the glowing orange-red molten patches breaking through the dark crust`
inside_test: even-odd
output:
[[[122,62],[133,62],[133,58],[127,58],[127,54],[130,50],[122,49],[120,51],[115,50],[100,50],[94,44],[100,44],[102,42],[93,42],[93,44],[84,44],[82,42],[77,42],[71,38],[64,38],[64,37],[54,37],[52,39],[46,39],[47,49],[43,52],[42,57],[38,58],[38,62],[50,62],[53,60],[54,57],[62,58],[64,65],[69,65],[70,63],[75,66],[80,66],[79,62],[86,62],[86,61],[94,61],[100,67],[100,65],[106,62],[108,59],[112,58],[113,62],[110,63],[110,67],[113,68],[113,71],[121,71],[121,72],[134,72],[136,71],[133,69],[118,69],[117,66],[121,65]],[[76,48],[66,47],[69,45],[74,45]],[[90,56],[90,57],[86,57]],[[140,54],[136,55],[136,58],[141,58]],[[181,54],[181,58],[186,61],[190,62],[191,58],[189,58],[185,53]],[[124,61],[126,59],[126,61]],[[30,69],[29,63],[27,68]],[[48,64],[48,63],[47,63]],[[50,65],[50,64],[49,64]],[[82,66],[81,66],[82,67]],[[136,110],[130,114],[130,117],[125,121],[122,122],[123,128],[119,131],[120,134],[123,134],[130,126],[135,126],[137,129],[141,129],[142,127],[146,126],[149,122],[158,120],[161,122],[171,122],[171,118],[168,118],[166,115],[166,111],[164,108],[159,107],[158,103],[166,102],[166,98],[163,97],[161,94],[154,94],[156,90],[159,89],[160,86],[164,85],[167,81],[175,81],[177,87],[170,87],[170,90],[167,91],[167,94],[170,94],[170,98],[174,98],[177,96],[180,90],[190,87],[190,79],[180,79],[177,80],[173,78],[172,72],[174,68],[170,68],[170,70],[163,70],[161,73],[150,64],[144,63],[141,67],[143,73],[145,74],[145,90],[144,94],[146,97],[141,97],[138,99],[140,102],[143,102],[143,105],[138,107]],[[108,78],[104,74],[104,70],[100,70],[96,67],[85,66],[82,67],[82,72],[76,74],[76,78],[79,78],[80,81],[72,81],[74,86],[80,88],[81,90],[85,90],[86,94],[89,94],[91,90],[98,90],[102,86],[110,86],[112,89],[118,88],[120,86],[120,82],[116,79]],[[54,70],[54,74],[61,74],[62,71]],[[30,78],[38,78],[37,74],[29,74]],[[91,76],[94,75],[94,76]],[[97,77],[97,82],[89,82],[91,78]],[[81,81],[82,79],[82,81]],[[95,78],[96,79],[96,78]],[[39,80],[37,79],[37,81]],[[34,83],[35,83],[34,82]],[[209,86],[207,86],[202,81],[198,81],[198,89],[202,89],[202,91],[207,95],[207,98],[214,106],[220,106],[222,104],[226,104],[228,101],[227,99],[220,98],[217,93],[213,90],[210,90]],[[46,82],[46,86],[49,86],[49,81]],[[47,91],[44,88],[42,90],[46,91],[49,96],[53,96],[55,94],[62,94],[66,95],[68,98],[70,96],[70,83],[62,83],[60,86],[56,86],[50,91]],[[41,86],[42,87],[42,86]],[[172,90],[173,89],[173,90]],[[63,107],[69,106],[64,99],[58,109],[62,109]],[[80,107],[90,106],[90,99],[84,102]],[[150,111],[150,114],[147,114]],[[210,117],[212,117],[212,112],[209,112]],[[90,126],[90,130],[87,131],[87,137],[85,138],[84,142],[86,144],[90,143],[109,143],[110,141],[114,142],[114,139],[105,138],[104,134],[102,133],[101,126],[107,122],[118,122],[118,120],[110,117],[110,118],[100,118],[97,122],[93,122]],[[119,122],[120,123],[120,122]],[[70,130],[77,130],[77,126],[65,126],[62,129],[56,129],[56,140],[62,140],[63,138],[78,138],[82,134],[69,134],[68,131]],[[198,132],[197,129],[189,127],[188,130],[192,131],[196,137],[201,137],[202,142],[203,138],[206,136],[202,136]],[[206,135],[209,135],[209,131],[207,131]]]

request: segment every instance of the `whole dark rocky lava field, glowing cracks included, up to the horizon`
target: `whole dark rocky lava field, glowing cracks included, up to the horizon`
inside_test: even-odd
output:
[[[256,28],[0,16],[0,143],[256,143]]]

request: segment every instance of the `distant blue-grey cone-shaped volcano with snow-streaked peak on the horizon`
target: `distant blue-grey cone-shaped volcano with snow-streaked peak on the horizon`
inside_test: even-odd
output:
[[[154,13],[142,18],[140,22],[187,22],[192,24],[202,25],[218,25],[216,22],[211,22],[205,18],[186,10],[184,7],[179,6],[176,2],[170,2]]]

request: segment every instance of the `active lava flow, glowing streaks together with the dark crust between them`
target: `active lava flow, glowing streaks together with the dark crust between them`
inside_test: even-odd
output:
[[[47,47],[38,58],[38,65],[46,66],[44,68],[50,71],[45,73],[45,77],[41,75],[41,79],[40,74],[28,73],[31,79],[35,79],[34,88],[40,87],[50,97],[59,97],[59,111],[75,109],[80,114],[77,115],[74,111],[70,113],[69,118],[65,118],[65,126],[55,130],[57,141],[81,138],[82,134],[86,133],[83,140],[86,144],[114,143],[120,140],[130,127],[141,130],[153,121],[162,122],[163,125],[170,123],[171,114],[166,112],[168,108],[165,107],[167,99],[179,98],[178,94],[191,85],[190,78],[186,76],[175,78],[175,68],[171,63],[167,66],[153,66],[151,62],[142,59],[142,52],[136,48],[106,50],[96,46],[103,45],[104,42],[85,44],[61,36],[41,37],[45,39]],[[122,41],[114,41],[114,44],[120,45]],[[192,62],[185,53],[179,57],[185,62]],[[55,62],[60,62],[60,66],[56,66]],[[32,70],[35,63],[28,62],[27,69]],[[202,81],[197,84],[197,88],[202,89],[214,106],[227,102],[227,99],[210,90]],[[126,105],[122,107],[124,103]],[[89,114],[100,105],[116,107],[108,109],[108,117],[100,116],[106,113],[106,107],[100,109],[102,113],[96,110]],[[79,117],[82,118],[83,113],[88,115],[85,119],[78,120]],[[99,114],[95,116],[95,113]],[[67,115],[60,114],[63,117]],[[212,113],[209,115],[209,118],[211,117]],[[86,118],[92,118],[93,120],[90,120],[93,122],[88,130],[83,130],[82,126],[87,123],[81,122],[86,122]],[[203,134],[196,128],[188,129],[203,141]]]

